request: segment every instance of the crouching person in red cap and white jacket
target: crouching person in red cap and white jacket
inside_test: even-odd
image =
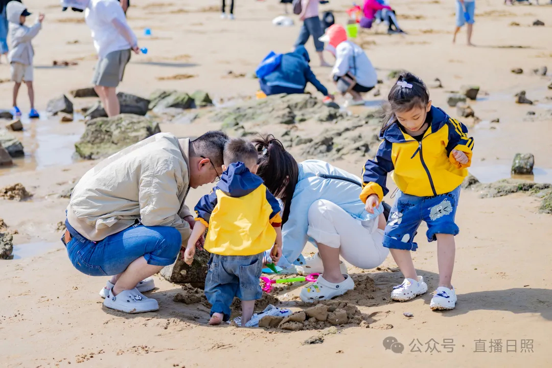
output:
[[[332,78],[339,92],[351,94],[353,99],[347,104],[364,105],[362,93],[378,83],[378,75],[364,50],[347,40],[347,31],[338,24],[330,26],[320,40],[327,42],[326,49],[336,57]]]

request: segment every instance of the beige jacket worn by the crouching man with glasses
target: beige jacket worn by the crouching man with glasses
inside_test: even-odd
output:
[[[171,226],[190,236],[183,218],[189,190],[189,139],[160,133],[113,154],[79,180],[67,220],[91,241],[132,226]]]

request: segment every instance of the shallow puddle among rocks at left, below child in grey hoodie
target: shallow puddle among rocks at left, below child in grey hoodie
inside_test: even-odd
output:
[[[25,156],[14,158],[14,165],[0,169],[1,174],[41,170],[52,166],[62,166],[76,161],[75,143],[84,132],[82,115],[75,114],[75,121],[60,122],[57,116],[41,112],[39,120],[23,116],[23,132],[12,132],[22,143]]]

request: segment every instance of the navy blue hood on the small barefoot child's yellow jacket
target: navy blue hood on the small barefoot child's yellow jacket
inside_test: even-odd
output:
[[[220,176],[217,188],[231,197],[243,197],[263,184],[263,179],[250,172],[243,162],[231,163]]]

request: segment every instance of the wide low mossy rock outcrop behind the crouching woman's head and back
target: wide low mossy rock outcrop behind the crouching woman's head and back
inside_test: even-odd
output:
[[[375,153],[383,121],[381,108],[366,108],[352,115],[325,105],[310,94],[273,95],[216,111],[212,121],[222,122],[230,135],[247,136],[265,124],[282,124],[288,130],[280,137],[286,148],[298,147],[302,158],[339,159],[348,154]],[[295,133],[302,122],[320,123],[312,137]]]

